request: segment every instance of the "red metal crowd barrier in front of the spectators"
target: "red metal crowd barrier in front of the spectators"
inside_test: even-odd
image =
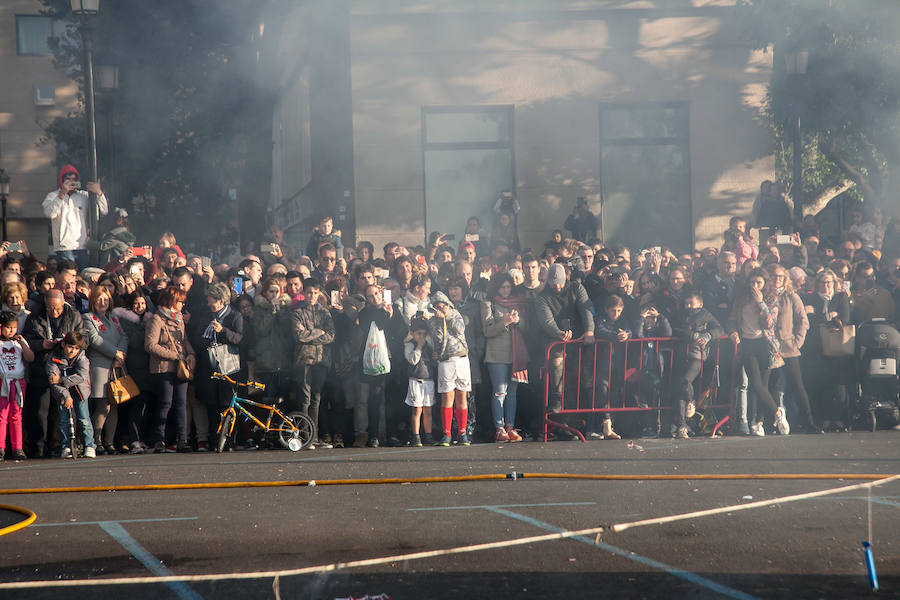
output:
[[[738,346],[723,336],[710,347],[707,360],[701,363],[698,382],[711,379],[708,385],[695,387],[694,401],[698,410],[712,409],[724,414],[712,427],[715,436],[730,418],[737,388],[740,365]],[[656,412],[670,410],[674,400],[675,379],[687,358],[687,345],[678,338],[634,338],[624,342],[597,340],[583,344],[580,340],[554,342],[544,355],[544,441],[550,427],[570,431],[584,441],[577,429],[550,418],[555,414],[597,414],[622,412]],[[561,360],[559,367],[554,361]],[[727,367],[722,373],[721,367]],[[708,369],[715,372],[705,376]],[[551,380],[561,379],[559,406],[551,406]],[[651,376],[652,375],[652,376]],[[555,387],[555,386],[554,386]]]

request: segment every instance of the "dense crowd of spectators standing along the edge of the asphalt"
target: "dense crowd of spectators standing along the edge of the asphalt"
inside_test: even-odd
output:
[[[99,184],[86,187],[105,214]],[[826,356],[819,325],[896,324],[900,307],[900,219],[880,226],[862,209],[831,240],[814,219],[767,223],[763,207],[758,229],[734,217],[722,244],[676,254],[604,244],[579,199],[569,237],[556,230],[523,251],[520,207],[505,193],[492,230],[469,219],[458,245],[434,232],[426,246],[376,252],[347,244],[326,215],[303,250],[273,227],[226,263],[185,254],[171,233],[135,245],[121,209],[92,242],[89,206],[67,166],[44,201],[50,256],[38,260],[21,241],[0,246],[0,457],[71,457],[70,419],[87,457],[208,451],[232,396],[211,377],[222,346],[240,358],[235,377],[264,383],[266,402],[317,424],[311,448],[534,439],[547,412],[571,409],[567,373],[580,369],[568,380],[604,402],[622,393],[586,364],[620,369],[619,345],[637,338],[679,348],[671,363],[641,350],[651,388],[675,382],[658,398],[662,418],[560,419],[592,438],[699,433],[698,376],[730,338],[740,376],[720,393],[736,399],[732,434],[841,431],[856,372],[852,357]],[[139,393],[116,404],[108,383],[126,373]],[[267,443],[241,428],[231,440]]]

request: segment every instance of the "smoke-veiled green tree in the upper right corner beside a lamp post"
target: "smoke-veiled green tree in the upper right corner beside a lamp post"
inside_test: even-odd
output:
[[[893,0],[740,0],[754,47],[775,52],[767,110],[776,178],[790,189],[791,123],[802,123],[803,198],[816,213],[841,193],[887,206],[900,191],[900,10]],[[805,76],[783,55],[809,52]]]

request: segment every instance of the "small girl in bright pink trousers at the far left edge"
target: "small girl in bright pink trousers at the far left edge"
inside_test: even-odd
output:
[[[25,363],[34,360],[34,352],[19,333],[16,313],[0,312],[0,461],[6,454],[6,431],[12,458],[22,460],[22,403],[25,399]]]

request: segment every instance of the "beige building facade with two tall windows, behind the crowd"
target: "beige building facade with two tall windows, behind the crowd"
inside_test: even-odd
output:
[[[349,49],[330,54],[348,55],[353,183],[307,211],[351,211],[357,240],[460,239],[469,216],[490,230],[511,190],[523,247],[583,196],[608,242],[684,251],[720,241],[772,177],[772,55],[742,41],[735,0],[337,5]],[[315,147],[299,171],[313,182]]]

